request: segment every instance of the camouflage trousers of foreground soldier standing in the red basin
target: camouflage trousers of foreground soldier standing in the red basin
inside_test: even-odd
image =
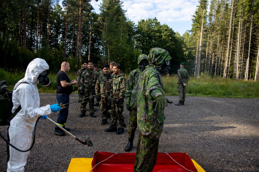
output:
[[[139,133],[134,172],[150,172],[156,164],[158,139],[150,139]]]

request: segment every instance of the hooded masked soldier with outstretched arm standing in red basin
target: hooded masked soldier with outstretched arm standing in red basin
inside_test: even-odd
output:
[[[137,122],[140,134],[134,171],[142,172],[150,172],[155,166],[159,138],[166,119],[164,107],[167,106],[167,102],[171,103],[164,96],[162,82],[162,75],[164,75],[162,71],[165,67],[169,68],[171,57],[161,48],[152,48],[149,53],[150,64],[146,66],[139,78],[137,98]]]

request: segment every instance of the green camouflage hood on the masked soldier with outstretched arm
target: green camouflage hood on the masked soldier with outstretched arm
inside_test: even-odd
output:
[[[166,60],[172,59],[167,50],[162,48],[152,48],[149,50],[148,61],[151,64],[161,67]]]

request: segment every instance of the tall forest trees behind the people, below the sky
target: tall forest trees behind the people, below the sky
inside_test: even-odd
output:
[[[100,1],[100,0],[99,0]],[[170,74],[185,63],[190,75],[257,80],[259,2],[200,0],[192,28],[182,36],[157,18],[128,19],[120,0],[102,0],[100,14],[91,0],[0,1],[0,68],[24,70],[43,58],[56,72],[63,61],[77,71],[82,60],[115,61],[129,73],[139,54],[160,47],[170,53]]]

